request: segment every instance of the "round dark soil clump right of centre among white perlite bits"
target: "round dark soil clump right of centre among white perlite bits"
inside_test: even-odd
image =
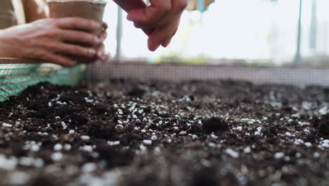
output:
[[[228,130],[228,123],[223,118],[209,118],[202,121],[202,130],[205,133]]]

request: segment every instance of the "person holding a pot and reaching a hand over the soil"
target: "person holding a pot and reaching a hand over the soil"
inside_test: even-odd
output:
[[[99,23],[84,18],[46,18],[42,8],[46,6],[44,0],[21,1],[22,7],[18,0],[0,1],[0,57],[34,58],[62,66],[77,63],[68,56],[95,57],[102,61],[108,59],[103,46],[106,32],[98,37],[89,33],[98,30],[101,27]],[[150,51],[155,51],[160,45],[169,45],[187,5],[186,0],[150,0],[150,6],[144,6],[142,0],[114,1],[128,11],[128,20],[146,32]],[[1,16],[4,11],[7,11],[9,19]],[[15,16],[12,16],[13,11]],[[22,12],[24,15],[18,16]],[[24,24],[15,25],[19,17],[25,17],[26,23],[21,18],[20,22]],[[1,23],[4,23],[3,27]],[[98,47],[93,49],[79,44]]]

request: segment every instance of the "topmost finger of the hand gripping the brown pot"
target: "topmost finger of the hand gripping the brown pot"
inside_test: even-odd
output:
[[[56,19],[56,25],[62,29],[85,30],[89,32],[101,29],[101,24],[85,18],[58,18]]]

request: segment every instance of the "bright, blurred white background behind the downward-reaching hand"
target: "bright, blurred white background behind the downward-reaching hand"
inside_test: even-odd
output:
[[[189,9],[196,10],[183,13],[172,43],[151,52],[146,35],[109,1],[105,11],[110,27],[108,51],[122,61],[148,63],[329,66],[328,0],[189,3]]]

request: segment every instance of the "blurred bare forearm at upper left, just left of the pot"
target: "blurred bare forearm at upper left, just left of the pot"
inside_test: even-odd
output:
[[[22,0],[27,23],[47,17],[45,0]]]

